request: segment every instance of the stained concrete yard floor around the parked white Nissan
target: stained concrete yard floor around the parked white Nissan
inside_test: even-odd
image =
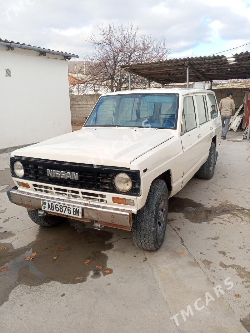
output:
[[[35,225],[7,199],[10,154],[1,155],[1,331],[250,332],[250,148],[228,140],[218,150],[214,177],[193,177],[169,200],[157,252],[126,231]]]

